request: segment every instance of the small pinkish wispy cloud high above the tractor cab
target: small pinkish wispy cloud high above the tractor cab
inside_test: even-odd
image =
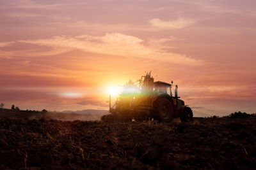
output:
[[[188,27],[191,24],[194,24],[195,21],[187,20],[184,18],[179,18],[178,20],[166,21],[161,20],[159,18],[154,18],[149,20],[149,23],[155,27],[159,27],[160,29],[182,29],[184,27]]]

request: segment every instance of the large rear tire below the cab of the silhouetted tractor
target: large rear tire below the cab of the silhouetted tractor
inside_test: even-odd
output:
[[[173,113],[173,104],[167,98],[161,97],[154,103],[154,116],[159,121],[172,122]]]

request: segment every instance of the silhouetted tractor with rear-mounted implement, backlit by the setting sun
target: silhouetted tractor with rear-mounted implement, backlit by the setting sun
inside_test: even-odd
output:
[[[109,114],[102,116],[102,121],[112,120],[159,120],[172,122],[180,117],[182,122],[191,122],[193,112],[178,97],[178,86],[175,85],[174,96],[172,83],[154,81],[150,73],[141,76],[138,81],[129,80],[124,85],[120,96],[111,106],[109,96]]]

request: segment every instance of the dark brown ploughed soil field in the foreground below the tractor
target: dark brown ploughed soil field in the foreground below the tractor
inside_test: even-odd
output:
[[[62,122],[0,118],[0,169],[255,169],[256,119]]]

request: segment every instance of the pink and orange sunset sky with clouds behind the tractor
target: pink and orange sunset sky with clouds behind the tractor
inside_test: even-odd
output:
[[[196,117],[256,113],[255,0],[0,0],[0,103],[108,109],[152,71]]]

